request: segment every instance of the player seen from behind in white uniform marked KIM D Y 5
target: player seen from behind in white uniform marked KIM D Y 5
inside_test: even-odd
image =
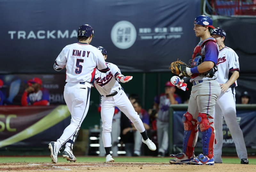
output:
[[[101,52],[89,45],[94,34],[90,25],[82,25],[78,29],[78,43],[69,44],[60,52],[55,60],[54,69],[60,71],[66,67],[66,82],[64,99],[71,113],[71,122],[56,142],[49,144],[53,163],[57,163],[59,149],[66,142],[63,158],[76,161],[72,153],[78,131],[89,108],[91,85],[95,79],[96,69],[101,72],[109,71]]]

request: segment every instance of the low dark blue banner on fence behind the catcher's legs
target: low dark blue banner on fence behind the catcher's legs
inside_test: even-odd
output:
[[[186,111],[174,111],[173,112],[173,145],[182,147],[184,127],[182,123],[182,116]],[[236,119],[240,125],[244,134],[244,142],[246,146],[256,145],[256,111],[239,110],[236,112]],[[199,129],[198,140],[196,147],[202,146],[202,134]],[[231,137],[228,126],[223,118],[223,147],[235,147],[235,143]]]

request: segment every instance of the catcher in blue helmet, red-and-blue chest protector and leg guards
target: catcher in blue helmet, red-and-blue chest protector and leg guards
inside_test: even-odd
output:
[[[190,76],[192,91],[188,102],[188,111],[184,114],[183,152],[171,154],[171,164],[208,164],[213,165],[214,124],[213,113],[215,101],[220,95],[220,85],[216,81],[216,64],[219,47],[210,35],[212,19],[208,16],[197,16],[194,21],[196,37],[202,41],[194,49],[191,60],[192,68],[180,68],[180,76]],[[198,136],[198,125],[202,132],[203,153],[194,155]]]

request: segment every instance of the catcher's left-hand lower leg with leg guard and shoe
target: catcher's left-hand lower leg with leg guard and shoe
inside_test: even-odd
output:
[[[183,153],[171,154],[172,159],[169,160],[171,164],[190,164],[195,157],[194,147],[198,135],[197,121],[190,113],[186,112],[182,117],[182,122],[184,123]]]

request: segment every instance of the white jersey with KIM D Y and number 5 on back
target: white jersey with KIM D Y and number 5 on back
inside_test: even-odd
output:
[[[100,50],[92,45],[81,42],[64,47],[55,63],[66,65],[66,82],[69,83],[93,83],[96,68],[103,72],[108,71]]]

